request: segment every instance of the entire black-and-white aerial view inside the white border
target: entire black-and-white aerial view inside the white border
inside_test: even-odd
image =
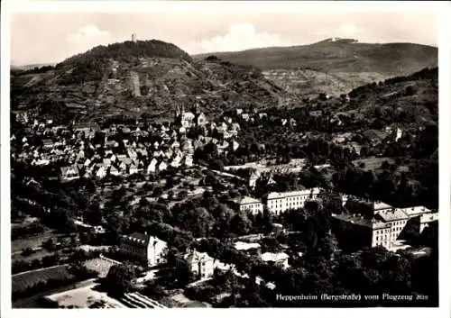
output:
[[[13,308],[438,307],[434,12],[10,20]]]

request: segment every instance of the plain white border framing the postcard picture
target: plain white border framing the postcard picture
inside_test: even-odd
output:
[[[433,314],[434,317],[448,316],[450,313],[450,295],[449,295],[449,282],[451,277],[449,275],[450,265],[450,194],[451,194],[451,169],[449,165],[449,150],[450,150],[450,137],[451,132],[449,124],[451,120],[451,103],[450,103],[450,90],[451,90],[451,23],[448,22],[449,16],[451,16],[450,4],[447,2],[189,2],[189,1],[129,1],[129,2],[117,2],[117,1],[2,1],[1,10],[1,39],[2,39],[2,59],[1,59],[1,72],[2,72],[2,94],[1,94],[1,313],[2,317],[33,317],[35,318],[40,313],[42,315],[64,315],[64,316],[78,316],[79,314],[91,316],[91,315],[111,315],[117,317],[124,317],[124,315],[130,313],[149,314],[148,311],[142,310],[107,310],[107,311],[95,311],[92,309],[87,310],[45,310],[45,309],[33,309],[33,310],[11,310],[11,258],[10,258],[10,197],[9,197],[9,68],[10,68],[10,14],[14,12],[163,12],[163,11],[177,11],[177,12],[194,12],[194,11],[222,11],[222,12],[235,12],[235,11],[259,11],[259,12],[305,12],[305,11],[346,11],[346,12],[367,12],[367,11],[432,11],[438,14],[438,47],[439,47],[439,163],[440,163],[440,193],[439,193],[439,205],[440,205],[440,240],[439,240],[439,265],[440,265],[440,306],[437,309],[428,308],[371,308],[370,309],[246,309],[245,313],[255,313],[260,316],[272,317],[274,315],[305,315],[307,317],[318,316],[322,314],[325,317],[333,315],[336,318],[339,317],[351,317],[353,315],[362,317],[365,316],[384,316],[389,314],[392,316],[404,315],[404,314],[419,314],[428,315]],[[421,26],[419,25],[419,28]],[[176,43],[177,44],[177,43]],[[214,313],[211,310],[204,309],[202,311],[195,309],[171,309],[166,310],[161,314],[177,315],[183,314],[185,316],[196,315],[199,313],[205,313],[206,315],[215,316],[229,316],[230,310],[215,309]],[[274,312],[274,311],[282,311]],[[158,315],[158,310],[152,310],[150,314]],[[240,312],[242,313],[242,312]]]

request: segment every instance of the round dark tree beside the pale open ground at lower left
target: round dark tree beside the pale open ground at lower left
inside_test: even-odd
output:
[[[123,295],[133,288],[136,279],[136,271],[132,264],[124,263],[113,265],[105,277],[105,284],[109,292],[115,295]]]

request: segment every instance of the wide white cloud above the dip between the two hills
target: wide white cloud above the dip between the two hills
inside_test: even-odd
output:
[[[283,39],[279,34],[256,32],[251,23],[237,23],[228,28],[224,35],[217,35],[192,43],[189,53],[208,53],[217,51],[248,50],[272,46],[290,46],[291,41]]]

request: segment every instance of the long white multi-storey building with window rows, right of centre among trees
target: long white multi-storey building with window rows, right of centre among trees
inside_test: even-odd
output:
[[[272,214],[281,214],[287,210],[304,207],[308,200],[318,197],[320,189],[314,187],[302,191],[271,192],[266,196],[266,205]]]

